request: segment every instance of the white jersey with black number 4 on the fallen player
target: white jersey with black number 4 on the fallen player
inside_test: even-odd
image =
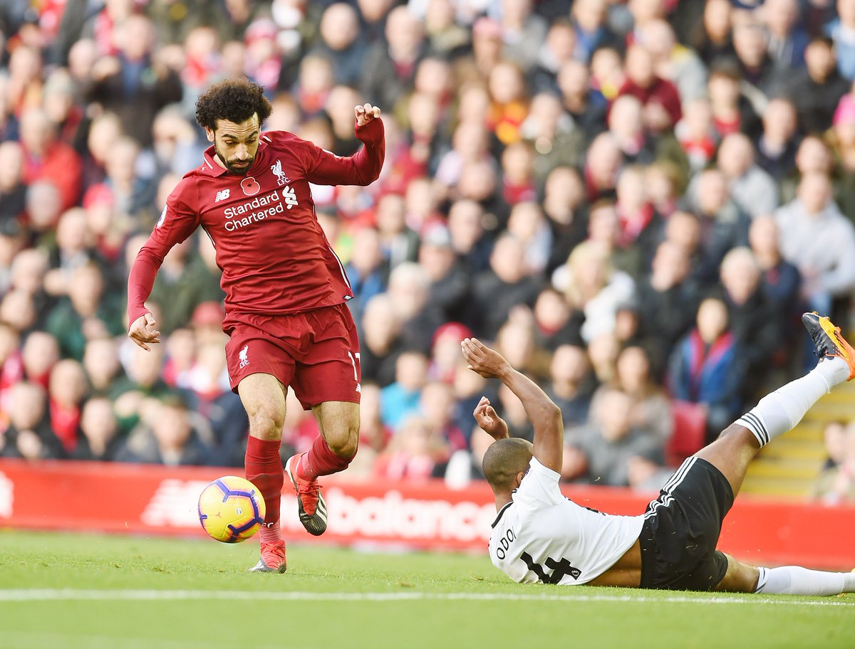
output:
[[[641,534],[643,516],[578,506],[561,493],[559,477],[532,458],[513,500],[492,523],[492,564],[515,582],[590,582],[616,564]]]

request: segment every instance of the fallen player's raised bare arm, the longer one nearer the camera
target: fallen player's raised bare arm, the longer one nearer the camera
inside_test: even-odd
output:
[[[470,370],[485,378],[498,378],[522,401],[528,420],[534,426],[534,457],[540,464],[560,473],[564,441],[561,409],[534,381],[516,371],[502,354],[477,338],[464,338],[460,346]]]

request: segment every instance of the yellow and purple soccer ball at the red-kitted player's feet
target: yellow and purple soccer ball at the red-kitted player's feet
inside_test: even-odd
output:
[[[217,478],[199,495],[199,523],[212,539],[239,543],[264,523],[264,499],[252,482],[237,476]]]

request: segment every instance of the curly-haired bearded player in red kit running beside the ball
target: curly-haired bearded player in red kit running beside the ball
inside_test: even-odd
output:
[[[216,248],[226,291],[226,358],[233,391],[250,420],[246,477],[267,516],[257,572],[285,572],[279,527],[284,474],[279,449],[288,387],[314,412],[321,435],[285,472],[299,517],[313,535],[327,529],[318,476],[344,471],[359,438],[359,342],[345,304],[351,286],[315,218],[310,183],[368,185],[385,155],[380,108],[357,106],[362,149],[342,158],[288,132],[262,132],[270,102],[261,86],[228,80],[199,97],[196,120],[209,142],[202,164],[169,195],[128,278],[128,336],[160,342],[144,301],[163,257],[201,225]]]

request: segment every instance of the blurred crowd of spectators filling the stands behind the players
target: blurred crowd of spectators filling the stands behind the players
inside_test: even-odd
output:
[[[481,395],[531,438],[464,336],[562,407],[565,480],[650,488],[811,366],[799,313],[852,324],[852,0],[7,0],[0,455],[242,465],[209,238],[157,276],[162,344],[124,321],[196,98],[241,75],[338,155],[383,110],[380,179],[313,187],[356,294],[351,477],[477,479]],[[317,434],[292,399],[285,428]]]

